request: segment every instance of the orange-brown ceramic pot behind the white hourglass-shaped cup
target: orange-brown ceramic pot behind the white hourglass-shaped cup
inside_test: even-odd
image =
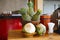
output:
[[[40,23],[46,26],[46,30],[48,31],[48,23],[51,21],[50,15],[42,15],[40,16]]]

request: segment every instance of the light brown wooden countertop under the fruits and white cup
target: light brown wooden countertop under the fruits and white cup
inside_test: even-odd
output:
[[[8,40],[60,40],[60,35],[53,33],[53,34],[46,34],[43,36],[34,36],[34,37],[21,37],[22,34],[20,31],[10,31],[8,35]]]

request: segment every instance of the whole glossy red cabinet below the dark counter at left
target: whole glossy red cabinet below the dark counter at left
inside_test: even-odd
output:
[[[17,18],[0,18],[0,40],[7,40],[9,30],[22,30],[22,20]]]

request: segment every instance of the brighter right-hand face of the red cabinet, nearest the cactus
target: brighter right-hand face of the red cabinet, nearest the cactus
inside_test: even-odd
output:
[[[20,18],[10,18],[6,20],[8,30],[21,30],[22,23]]]

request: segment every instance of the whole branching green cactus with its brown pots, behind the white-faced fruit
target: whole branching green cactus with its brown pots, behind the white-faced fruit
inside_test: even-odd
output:
[[[28,2],[28,8],[21,8],[19,10],[19,13],[22,15],[23,19],[23,25],[32,22],[33,24],[38,24],[40,22],[40,14],[41,10],[37,10],[37,12],[34,12],[33,10],[33,3],[30,1]]]

